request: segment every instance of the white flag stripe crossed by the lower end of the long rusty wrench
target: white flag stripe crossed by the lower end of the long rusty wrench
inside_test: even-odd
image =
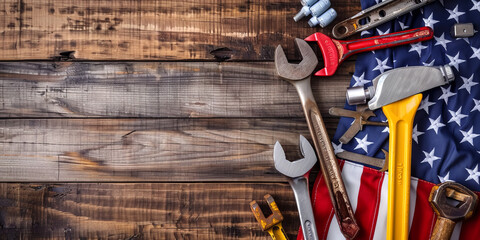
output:
[[[352,210],[355,212],[357,209],[358,193],[360,192],[360,180],[362,179],[363,166],[355,163],[345,161],[342,169],[343,183],[347,190],[350,203],[352,204]],[[337,217],[333,216],[328,228],[327,239],[337,240],[345,239],[340,227],[338,226]]]

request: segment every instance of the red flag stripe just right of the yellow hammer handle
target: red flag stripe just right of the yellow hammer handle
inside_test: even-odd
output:
[[[433,212],[428,196],[434,184],[418,180],[417,199],[415,200],[415,213],[412,226],[410,227],[410,239],[429,239],[435,224],[435,213]]]

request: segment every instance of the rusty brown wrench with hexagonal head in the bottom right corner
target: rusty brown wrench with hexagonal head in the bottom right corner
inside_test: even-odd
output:
[[[461,184],[445,182],[432,188],[428,201],[438,216],[430,240],[447,240],[457,222],[473,215],[478,196]]]

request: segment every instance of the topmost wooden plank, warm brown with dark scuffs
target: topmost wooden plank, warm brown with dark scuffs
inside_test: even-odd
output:
[[[336,21],[360,10],[350,0],[332,6]],[[290,0],[7,0],[0,4],[0,60],[63,51],[90,60],[272,60],[278,44],[292,48],[295,37],[330,32],[333,24],[295,23],[300,8]]]

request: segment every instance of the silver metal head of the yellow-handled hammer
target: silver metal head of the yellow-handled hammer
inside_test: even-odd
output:
[[[363,90],[362,87],[347,90],[350,105],[368,102],[371,110],[413,96],[417,93],[452,82],[455,79],[449,65],[440,67],[403,67],[378,75],[373,86]]]

